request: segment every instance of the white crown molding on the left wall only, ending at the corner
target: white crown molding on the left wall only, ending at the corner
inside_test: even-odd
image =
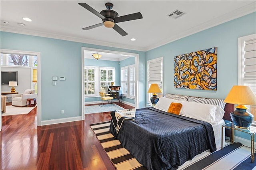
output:
[[[46,32],[42,32],[42,31],[38,31],[38,30],[16,28],[16,27],[12,27],[12,26],[1,26],[0,31],[12,32],[12,33],[16,33],[16,34],[25,34],[25,35],[30,35],[30,36],[54,38],[54,39],[58,39],[58,40],[66,40],[66,41],[72,41],[72,42],[102,45],[102,46],[107,46],[107,47],[116,47],[116,48],[122,48],[122,49],[145,51],[145,48],[132,46],[132,45],[102,42],[102,41],[90,40],[90,39],[86,39],[86,38],[78,38],[78,37],[75,37],[75,36],[64,36],[64,35],[60,35],[60,34],[55,34],[53,32],[52,33],[49,33],[49,32],[46,33]]]

